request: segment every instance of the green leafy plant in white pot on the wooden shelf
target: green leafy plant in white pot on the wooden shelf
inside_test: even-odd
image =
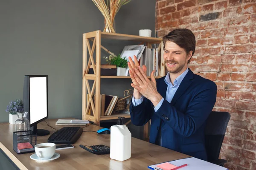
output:
[[[109,57],[104,57],[109,65],[116,65],[117,76],[125,76],[125,70],[127,66],[128,59],[126,57],[122,58],[120,57],[121,54],[118,54],[117,56],[110,55]]]

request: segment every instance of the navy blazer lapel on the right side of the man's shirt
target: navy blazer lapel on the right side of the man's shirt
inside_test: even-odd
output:
[[[192,83],[192,79],[194,78],[194,73],[189,69],[189,72],[186,74],[182,82],[180,83],[179,88],[177,89],[175,95],[172,98],[171,105],[173,105],[177,99],[186,91],[189,85]]]

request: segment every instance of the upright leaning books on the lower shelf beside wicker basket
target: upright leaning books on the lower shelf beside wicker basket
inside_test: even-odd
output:
[[[118,96],[100,94],[100,98],[99,98],[100,116],[110,116],[115,108],[117,100],[118,100]],[[87,94],[87,103],[88,101],[89,101],[89,94]],[[95,94],[93,94],[93,104],[95,107]],[[93,115],[93,111],[90,103],[88,107],[90,108],[89,115]]]

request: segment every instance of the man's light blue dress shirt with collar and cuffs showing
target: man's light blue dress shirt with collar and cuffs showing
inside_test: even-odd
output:
[[[180,83],[182,82],[182,80],[184,79],[184,77],[186,76],[186,74],[189,72],[189,69],[187,68],[186,71],[184,71],[182,74],[180,74],[179,77],[177,77],[174,82],[173,85],[171,83],[170,80],[170,76],[169,76],[169,72],[166,75],[166,78],[164,79],[164,81],[167,84],[167,90],[166,90],[166,100],[171,103],[173,96],[175,95],[177,89],[180,86]],[[132,103],[134,106],[140,105],[143,102],[144,96],[142,96],[140,99],[134,99],[134,96],[132,97]],[[160,100],[160,102],[156,105],[156,107],[154,107],[154,111],[157,112],[157,110],[161,107],[161,105],[163,104],[164,98],[162,98]],[[161,127],[159,129],[159,133],[157,135],[157,142],[156,144],[162,146],[162,137],[161,137]]]

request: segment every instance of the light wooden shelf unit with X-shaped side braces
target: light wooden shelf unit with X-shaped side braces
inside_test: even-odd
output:
[[[96,125],[100,124],[101,120],[111,120],[118,119],[119,116],[130,118],[130,114],[120,113],[113,114],[111,116],[100,116],[100,80],[102,78],[107,79],[128,79],[129,76],[100,76],[100,65],[101,65],[101,48],[107,51],[109,54],[111,53],[108,49],[101,45],[101,39],[112,39],[112,40],[125,40],[125,41],[137,41],[138,44],[145,44],[148,47],[152,48],[151,44],[159,44],[158,50],[161,51],[161,63],[160,63],[160,76],[156,78],[160,78],[165,76],[165,66],[163,61],[163,42],[161,38],[153,38],[153,37],[140,37],[137,35],[128,35],[128,34],[116,34],[116,33],[106,33],[100,30],[88,32],[83,34],[83,84],[82,84],[82,119],[87,119],[95,122]],[[93,42],[93,45],[90,46],[89,40]],[[123,48],[123,47],[120,47]],[[96,51],[96,61],[93,59],[93,53]],[[87,54],[89,54],[87,56]],[[88,74],[90,65],[93,67],[94,74]],[[150,77],[148,77],[150,78]],[[88,80],[93,80],[93,86],[90,89]],[[125,89],[124,89],[125,90]],[[87,91],[89,94],[89,100],[87,102]],[[93,104],[92,96],[95,91],[95,105]],[[93,111],[93,116],[88,115],[89,107]]]

